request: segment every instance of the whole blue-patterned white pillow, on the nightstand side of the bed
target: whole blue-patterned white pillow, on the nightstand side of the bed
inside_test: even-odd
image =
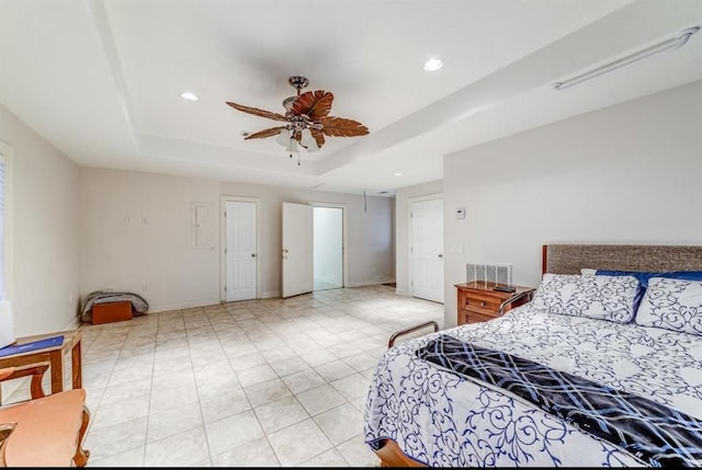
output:
[[[629,323],[634,318],[637,289],[634,276],[546,273],[532,306],[550,313]]]

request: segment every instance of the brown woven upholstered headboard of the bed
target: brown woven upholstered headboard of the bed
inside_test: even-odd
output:
[[[645,244],[545,244],[542,274],[580,270],[702,271],[702,247]]]

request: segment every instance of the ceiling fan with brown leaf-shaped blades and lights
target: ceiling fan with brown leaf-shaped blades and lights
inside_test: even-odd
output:
[[[358,137],[369,134],[367,127],[356,121],[329,116],[333,101],[331,92],[315,90],[301,93],[301,90],[309,84],[309,80],[305,77],[293,76],[287,82],[297,90],[297,95],[283,100],[285,114],[227,101],[227,104],[235,110],[286,123],[283,126],[249,134],[245,140],[278,136],[275,140],[283,145],[293,157],[293,151],[297,150],[298,146],[310,152],[319,150],[325,145],[325,136]],[[297,164],[299,164],[299,160]]]

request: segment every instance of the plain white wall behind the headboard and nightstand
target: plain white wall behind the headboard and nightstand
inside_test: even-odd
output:
[[[445,157],[444,324],[471,260],[537,286],[543,244],[702,243],[701,180],[702,81]]]

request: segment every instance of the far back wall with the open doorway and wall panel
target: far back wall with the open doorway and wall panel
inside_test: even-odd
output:
[[[260,198],[261,297],[281,294],[283,202],[347,204],[349,286],[394,280],[393,198],[369,196],[367,211],[364,211],[361,195],[82,169],[82,298],[90,291],[112,287],[143,295],[150,311],[218,302],[220,195]],[[216,210],[212,250],[192,248],[190,204],[193,202],[210,203]],[[145,284],[148,290],[144,293]]]

